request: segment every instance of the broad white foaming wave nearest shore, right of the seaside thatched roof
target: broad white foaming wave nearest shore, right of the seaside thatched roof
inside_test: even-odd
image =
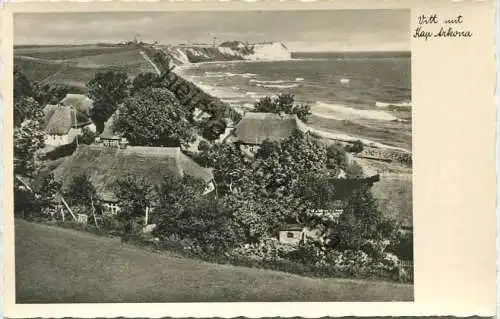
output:
[[[319,117],[349,120],[352,118],[363,118],[378,121],[398,121],[399,119],[387,112],[379,110],[360,110],[341,104],[328,104],[316,102],[311,107],[311,112]]]

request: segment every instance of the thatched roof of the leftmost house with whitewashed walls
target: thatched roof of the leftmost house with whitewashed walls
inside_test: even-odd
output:
[[[92,121],[82,112],[64,105],[47,105],[43,109],[44,131],[47,134],[64,135],[72,127],[82,127]]]

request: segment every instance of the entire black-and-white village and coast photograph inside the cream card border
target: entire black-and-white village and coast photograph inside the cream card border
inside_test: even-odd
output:
[[[15,13],[16,303],[413,301],[411,20]]]

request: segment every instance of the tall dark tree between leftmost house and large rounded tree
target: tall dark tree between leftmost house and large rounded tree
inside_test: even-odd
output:
[[[98,132],[128,96],[128,76],[124,72],[98,72],[87,83],[88,96],[94,101],[91,118]]]

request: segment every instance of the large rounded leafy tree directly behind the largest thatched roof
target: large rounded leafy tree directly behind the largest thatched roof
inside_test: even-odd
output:
[[[114,129],[132,145],[187,146],[195,140],[187,118],[187,112],[170,91],[147,88],[120,107]]]

